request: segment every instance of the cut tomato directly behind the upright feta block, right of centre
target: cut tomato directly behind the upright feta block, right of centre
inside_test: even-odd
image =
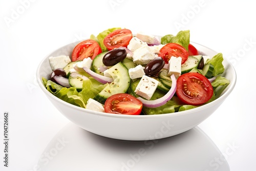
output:
[[[180,56],[182,58],[181,63],[184,63],[188,58],[188,52],[183,46],[179,44],[169,43],[160,49],[158,56],[162,57],[165,63],[168,63],[170,57],[172,56]]]

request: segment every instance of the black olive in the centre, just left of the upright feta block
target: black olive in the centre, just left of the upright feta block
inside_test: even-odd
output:
[[[146,67],[144,68],[144,72],[148,76],[156,75],[159,73],[159,71],[162,70],[162,68],[164,67],[164,64],[165,62],[163,58],[156,57],[155,59],[147,63]]]

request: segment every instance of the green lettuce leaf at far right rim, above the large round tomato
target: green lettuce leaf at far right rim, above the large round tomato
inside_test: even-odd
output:
[[[224,66],[222,65],[222,61],[222,53],[218,53],[217,55],[206,61],[206,64],[210,63],[212,66],[214,66],[214,72],[212,73],[212,76],[217,76],[224,72],[225,69]]]

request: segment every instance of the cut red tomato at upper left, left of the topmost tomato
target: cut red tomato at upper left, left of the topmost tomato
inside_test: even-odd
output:
[[[80,42],[76,45],[72,52],[72,61],[83,60],[84,58],[91,57],[94,59],[95,56],[100,54],[101,48],[97,41],[88,39]]]

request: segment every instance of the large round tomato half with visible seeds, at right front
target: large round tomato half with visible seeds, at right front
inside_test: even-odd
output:
[[[202,74],[186,73],[177,79],[176,94],[185,104],[200,105],[212,97],[214,90]]]

